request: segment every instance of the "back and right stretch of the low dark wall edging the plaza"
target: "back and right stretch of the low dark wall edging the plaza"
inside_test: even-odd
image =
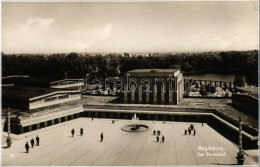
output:
[[[238,127],[221,119],[214,113],[195,112],[169,112],[169,111],[142,111],[142,110],[113,110],[113,109],[85,109],[86,117],[128,119],[131,120],[136,114],[139,120],[156,120],[172,122],[199,122],[207,123],[222,136],[238,145]],[[243,126],[244,128],[244,126]],[[243,148],[257,149],[258,136],[252,136],[243,129]]]

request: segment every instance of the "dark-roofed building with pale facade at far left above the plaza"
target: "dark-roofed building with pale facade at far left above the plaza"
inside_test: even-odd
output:
[[[32,110],[81,99],[79,90],[55,90],[48,88],[10,86],[2,89],[3,107]]]

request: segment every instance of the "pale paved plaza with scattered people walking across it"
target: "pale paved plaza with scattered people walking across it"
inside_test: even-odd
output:
[[[131,120],[79,118],[21,135],[12,135],[13,144],[2,142],[2,166],[139,166],[236,164],[238,148],[207,124],[193,123],[196,135],[184,135],[191,123],[139,121],[149,130],[131,133],[121,130]],[[74,137],[71,129],[75,129]],[[84,135],[80,136],[80,128]],[[165,142],[156,142],[153,130],[160,130]],[[104,140],[100,142],[100,133]],[[26,153],[24,145],[36,135],[40,146]],[[6,136],[6,133],[2,133]],[[210,147],[210,148],[209,148]],[[205,151],[204,149],[211,149]],[[215,149],[215,150],[213,150]],[[245,151],[247,152],[247,151]],[[257,165],[255,156],[245,163]]]

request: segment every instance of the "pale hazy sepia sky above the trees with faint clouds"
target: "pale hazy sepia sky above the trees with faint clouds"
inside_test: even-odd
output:
[[[4,53],[258,49],[258,2],[2,2]]]

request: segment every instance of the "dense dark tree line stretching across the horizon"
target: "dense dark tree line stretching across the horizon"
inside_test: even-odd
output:
[[[25,74],[36,77],[70,78],[115,77],[137,68],[180,68],[184,73],[222,73],[246,76],[249,84],[258,84],[258,51],[204,53],[153,53],[82,55],[5,55],[2,53],[3,76]]]

